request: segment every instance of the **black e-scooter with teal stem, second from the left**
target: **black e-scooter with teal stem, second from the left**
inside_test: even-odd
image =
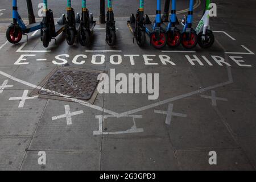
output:
[[[47,0],[43,1],[43,22],[41,28],[41,40],[44,47],[49,46],[51,39],[55,39],[61,32],[65,31],[67,19],[65,14],[61,15],[57,24],[54,23],[52,10],[48,10]],[[56,41],[56,39],[55,39]]]

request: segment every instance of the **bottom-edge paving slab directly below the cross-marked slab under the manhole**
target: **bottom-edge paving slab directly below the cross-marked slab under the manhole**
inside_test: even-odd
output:
[[[98,171],[100,152],[46,152],[46,165],[38,164],[38,151],[28,151],[22,171]]]

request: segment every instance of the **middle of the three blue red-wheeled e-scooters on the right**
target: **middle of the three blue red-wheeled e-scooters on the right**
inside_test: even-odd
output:
[[[180,45],[181,42],[180,30],[176,27],[176,24],[179,24],[179,20],[176,16],[176,0],[172,0],[170,22],[168,23],[166,30],[167,45],[169,47],[177,47]]]

